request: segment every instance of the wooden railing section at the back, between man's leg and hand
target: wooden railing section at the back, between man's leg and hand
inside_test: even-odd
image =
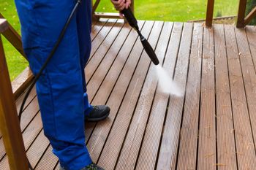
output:
[[[92,4],[92,18],[93,20],[99,20],[99,18],[119,18],[118,12],[96,12],[97,7],[99,6],[100,0],[96,0],[93,4],[93,0],[91,1]],[[134,13],[134,0],[132,0],[132,4],[130,5],[132,12]]]

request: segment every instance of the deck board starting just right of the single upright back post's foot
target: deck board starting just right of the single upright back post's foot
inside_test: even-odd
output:
[[[236,143],[233,133],[233,115],[225,47],[225,32],[222,25],[214,26],[216,70],[216,120],[218,169],[237,169]]]

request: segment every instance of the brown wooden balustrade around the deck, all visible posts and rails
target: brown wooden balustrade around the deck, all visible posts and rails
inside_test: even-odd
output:
[[[98,20],[99,18],[119,18],[118,13],[101,13],[96,12],[99,6],[100,0],[96,0],[92,6],[93,18]],[[134,1],[132,0],[131,9],[134,12]],[[246,12],[246,0],[239,1],[238,7],[238,20],[237,27],[242,28],[246,26],[256,16],[256,7],[252,9],[252,12],[245,17]],[[214,15],[214,0],[208,0],[207,12],[206,12],[206,26],[212,26],[212,20]],[[23,52],[22,42],[20,35],[15,31],[7,20],[0,13],[0,34],[5,36],[7,40],[18,50],[18,52],[26,58]],[[7,63],[4,56],[4,49],[1,42],[0,36],[0,131],[3,135],[4,146],[10,162],[10,169],[12,170],[28,170],[28,161],[26,159],[26,152],[23,145],[22,134],[20,131],[20,125],[18,122],[17,111],[15,107],[15,99],[20,96],[20,93],[28,87],[33,79],[33,75],[29,72],[27,68],[23,74],[21,74],[21,79],[25,80],[17,87],[11,85],[9,73],[7,70]],[[18,77],[19,79],[20,77]],[[19,82],[19,81],[18,81]],[[12,93],[13,87],[15,87]]]

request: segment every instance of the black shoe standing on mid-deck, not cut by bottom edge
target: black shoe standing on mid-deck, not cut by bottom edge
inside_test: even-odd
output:
[[[110,108],[105,105],[94,106],[94,109],[86,116],[86,121],[97,122],[108,117]]]

